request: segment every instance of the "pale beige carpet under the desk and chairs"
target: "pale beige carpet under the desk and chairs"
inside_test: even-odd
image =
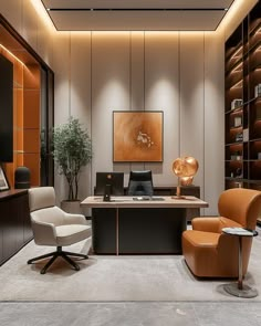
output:
[[[77,252],[88,249],[90,241],[70,248]],[[43,263],[27,264],[49,251],[32,241],[0,267],[0,301],[243,301],[222,290],[228,280],[196,280],[181,255],[90,255],[79,261],[79,272],[59,260],[45,275],[39,273]],[[261,236],[253,241],[244,282],[259,290],[260,295],[251,301],[260,301]]]

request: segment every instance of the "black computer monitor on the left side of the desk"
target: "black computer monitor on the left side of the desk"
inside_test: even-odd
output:
[[[95,194],[104,194],[106,185],[111,186],[111,194],[124,194],[124,172],[96,172]]]

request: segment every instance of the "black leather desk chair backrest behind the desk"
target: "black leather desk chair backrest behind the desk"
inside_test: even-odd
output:
[[[150,170],[129,172],[127,194],[153,196],[153,173]]]

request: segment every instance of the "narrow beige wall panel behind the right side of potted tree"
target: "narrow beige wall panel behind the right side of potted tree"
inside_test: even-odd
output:
[[[71,114],[91,136],[91,32],[71,34]],[[82,169],[79,198],[92,194],[91,165]]]

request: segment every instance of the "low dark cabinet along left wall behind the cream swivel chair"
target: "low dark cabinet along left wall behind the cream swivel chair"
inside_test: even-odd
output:
[[[0,193],[0,264],[32,239],[27,190]]]

